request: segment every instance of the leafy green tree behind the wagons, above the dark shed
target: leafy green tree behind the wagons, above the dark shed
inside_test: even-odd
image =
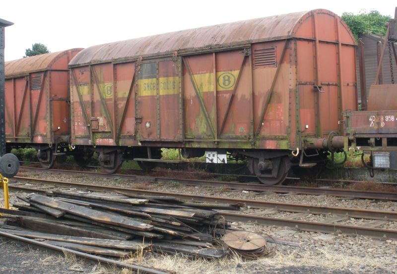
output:
[[[389,15],[382,15],[377,10],[364,11],[359,14],[343,12],[341,17],[353,32],[356,40],[364,33],[386,35],[385,24],[391,19]]]

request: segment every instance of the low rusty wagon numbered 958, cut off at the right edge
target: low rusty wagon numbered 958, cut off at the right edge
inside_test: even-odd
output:
[[[364,104],[366,96],[361,100],[364,106],[367,105],[366,111],[343,112],[346,128],[344,150],[351,153],[356,150],[363,151],[361,161],[369,169],[371,177],[374,176],[375,169],[397,168],[397,84],[394,79],[397,65],[397,8],[395,18],[390,19],[387,26],[375,83],[371,85],[369,91],[368,105]],[[389,48],[389,54],[385,54],[386,48]],[[389,63],[390,71],[387,73],[390,73],[391,77],[388,83],[383,82],[381,73],[384,59],[388,59]],[[362,68],[363,66],[360,66],[360,69]],[[362,83],[365,83],[364,71],[361,70],[360,75],[363,77]],[[368,162],[364,160],[365,153],[369,156]]]

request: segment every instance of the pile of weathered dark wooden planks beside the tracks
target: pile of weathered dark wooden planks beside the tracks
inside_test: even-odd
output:
[[[242,204],[205,204],[169,196],[58,190],[19,195],[18,210],[1,209],[0,231],[97,255],[125,257],[141,250],[221,258],[216,247],[229,225],[214,209]]]

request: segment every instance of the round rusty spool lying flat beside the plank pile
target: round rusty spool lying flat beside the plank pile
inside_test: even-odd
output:
[[[250,231],[233,231],[223,236],[223,242],[231,249],[239,252],[257,253],[266,247],[266,239]]]

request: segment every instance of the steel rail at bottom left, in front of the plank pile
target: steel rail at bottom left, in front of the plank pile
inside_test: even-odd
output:
[[[71,250],[71,249],[64,248],[64,247],[50,245],[50,244],[47,244],[47,243],[43,243],[43,242],[39,242],[39,241],[36,241],[36,240],[28,239],[28,238],[25,238],[25,237],[16,236],[16,235],[13,235],[13,234],[10,234],[10,233],[6,233],[6,232],[2,232],[2,231],[0,231],[0,236],[7,237],[7,238],[10,238],[10,239],[13,239],[13,240],[17,240],[17,241],[22,241],[22,242],[33,244],[33,245],[37,245],[37,246],[41,246],[41,247],[45,247],[45,248],[49,248],[49,249],[56,250],[56,251],[59,251],[59,252],[69,252],[69,253],[75,254],[75,255],[77,255],[79,257],[83,257],[83,258],[90,259],[90,260],[93,260],[93,261],[97,261],[97,262],[100,262],[100,263],[105,263],[105,264],[117,266],[117,267],[120,267],[120,268],[127,268],[127,269],[135,271],[136,273],[170,274],[169,272],[163,272],[163,271],[159,271],[159,270],[148,269],[148,268],[137,266],[137,265],[132,265],[132,264],[128,264],[128,263],[124,263],[124,262],[120,262],[120,261],[115,261],[115,260],[111,260],[111,259],[107,259],[107,258],[103,258],[103,257],[87,254],[87,253],[84,253],[84,252]]]

